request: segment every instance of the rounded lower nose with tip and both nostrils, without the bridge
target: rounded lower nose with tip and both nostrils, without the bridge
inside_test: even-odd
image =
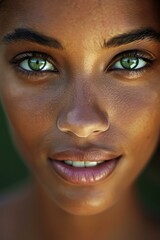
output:
[[[109,128],[107,112],[103,112],[93,103],[76,103],[58,117],[57,127],[61,132],[87,138],[105,132]]]

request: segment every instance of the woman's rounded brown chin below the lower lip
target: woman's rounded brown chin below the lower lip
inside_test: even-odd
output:
[[[100,214],[112,208],[119,199],[119,191],[114,191],[110,184],[108,184],[110,187],[106,187],[104,183],[92,186],[74,186],[59,179],[43,180],[38,186],[45,202],[47,201],[51,208],[71,215]]]

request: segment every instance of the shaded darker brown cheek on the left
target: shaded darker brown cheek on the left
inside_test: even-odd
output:
[[[3,88],[2,102],[16,145],[24,153],[37,152],[44,136],[56,126],[58,102],[49,90],[13,86]]]

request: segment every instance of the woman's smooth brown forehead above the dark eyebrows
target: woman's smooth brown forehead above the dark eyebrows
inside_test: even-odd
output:
[[[1,33],[29,27],[46,35],[87,39],[135,28],[159,28],[156,0],[4,0]],[[158,29],[159,30],[159,29]]]

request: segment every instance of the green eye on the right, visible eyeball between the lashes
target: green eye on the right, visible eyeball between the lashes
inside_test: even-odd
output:
[[[138,57],[126,57],[117,61],[112,69],[135,70],[141,69],[147,65],[147,61]]]

